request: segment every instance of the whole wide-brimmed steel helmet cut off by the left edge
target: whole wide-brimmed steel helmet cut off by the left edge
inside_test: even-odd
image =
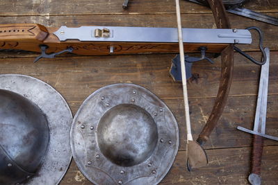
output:
[[[30,76],[0,81],[0,184],[58,184],[72,158],[67,103]]]

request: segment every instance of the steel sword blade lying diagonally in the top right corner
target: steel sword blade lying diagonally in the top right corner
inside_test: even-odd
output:
[[[254,12],[246,8],[231,8],[228,9],[227,12],[278,26],[278,19],[276,17],[271,17],[265,14],[261,14],[259,12]]]

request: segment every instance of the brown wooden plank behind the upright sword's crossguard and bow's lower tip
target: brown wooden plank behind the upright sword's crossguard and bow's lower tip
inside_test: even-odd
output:
[[[268,97],[268,114],[266,132],[272,136],[278,136],[277,130],[277,96]],[[180,150],[186,148],[186,124],[183,112],[182,100],[164,100],[177,118],[180,130]],[[202,131],[213,106],[213,98],[190,99],[190,121],[193,138]],[[243,96],[228,98],[224,112],[218,122],[218,126],[211,133],[210,139],[204,148],[235,148],[252,146],[252,135],[236,129],[238,125],[253,130],[254,115],[256,111],[256,96]],[[266,146],[278,145],[277,141],[265,140]],[[209,156],[208,156],[209,157]]]

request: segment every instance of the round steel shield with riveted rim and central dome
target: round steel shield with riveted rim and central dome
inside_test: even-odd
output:
[[[74,116],[72,154],[95,184],[158,184],[179,147],[177,121],[147,89],[108,85],[91,94]]]

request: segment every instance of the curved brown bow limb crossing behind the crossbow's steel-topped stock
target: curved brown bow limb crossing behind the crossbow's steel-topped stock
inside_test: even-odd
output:
[[[216,26],[218,28],[231,28],[226,10],[221,0],[207,0],[213,11]],[[211,115],[199,134],[197,142],[203,145],[208,140],[208,136],[216,127],[219,118],[226,105],[234,69],[234,44],[230,44],[221,53],[222,67],[218,95],[215,99]]]

